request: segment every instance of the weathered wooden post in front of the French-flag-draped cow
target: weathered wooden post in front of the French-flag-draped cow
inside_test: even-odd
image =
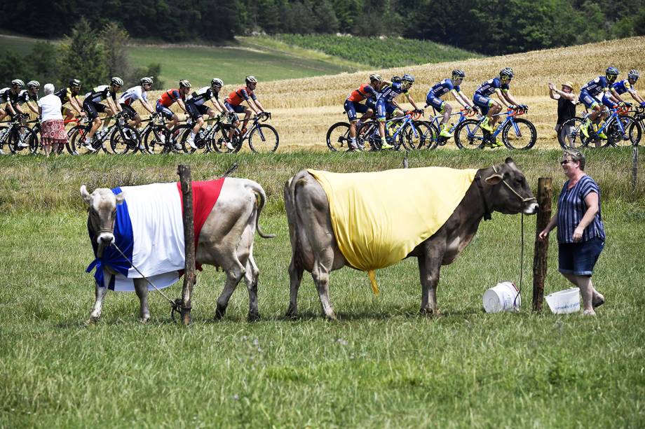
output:
[[[191,183],[191,167],[179,164],[177,174],[182,184],[182,204],[184,206],[184,288],[182,289],[182,323],[191,323],[191,295],[195,283],[195,232],[193,219],[193,185]]]

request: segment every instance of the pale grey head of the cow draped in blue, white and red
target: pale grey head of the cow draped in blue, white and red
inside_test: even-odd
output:
[[[116,205],[123,203],[123,193],[114,195],[107,188],[97,188],[91,194],[85,185],[81,186],[81,197],[88,204],[88,228],[98,245],[97,256],[103,255],[105,246],[114,242],[114,220]]]

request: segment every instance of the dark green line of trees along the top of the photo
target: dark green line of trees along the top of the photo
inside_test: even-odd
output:
[[[135,38],[231,40],[267,34],[404,36],[489,55],[645,34],[645,0],[17,0],[0,27],[39,37],[121,22]]]

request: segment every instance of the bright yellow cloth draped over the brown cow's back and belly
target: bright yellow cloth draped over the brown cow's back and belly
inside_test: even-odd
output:
[[[452,215],[477,170],[423,167],[372,173],[307,170],[330,202],[332,227],[347,262],[367,271],[405,258]]]

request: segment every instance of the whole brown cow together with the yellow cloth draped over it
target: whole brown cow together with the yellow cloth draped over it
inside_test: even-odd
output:
[[[421,276],[421,312],[437,313],[437,283],[493,211],[534,214],[538,209],[522,171],[508,157],[484,169],[423,167],[371,173],[300,171],[285,183],[292,259],[287,316],[297,314],[304,270],[311,272],[322,311],[335,319],[330,272],[346,265],[369,275],[415,256]]]

